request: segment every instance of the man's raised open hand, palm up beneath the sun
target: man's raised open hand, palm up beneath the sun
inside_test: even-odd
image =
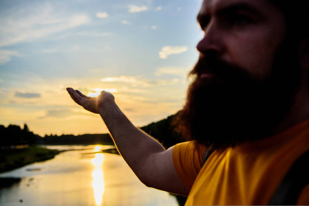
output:
[[[97,114],[99,113],[100,108],[102,108],[104,102],[114,101],[114,95],[106,91],[102,91],[100,95],[98,95],[98,98],[88,97],[81,93],[81,91],[74,90],[70,87],[67,88],[67,92],[70,94],[74,102],[83,106],[87,111]]]

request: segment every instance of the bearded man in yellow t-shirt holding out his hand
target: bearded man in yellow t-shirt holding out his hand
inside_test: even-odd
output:
[[[292,3],[292,4],[291,4]],[[309,204],[309,30],[301,1],[204,0],[204,38],[169,150],[129,122],[111,93],[72,99],[103,118],[131,169],[186,205]]]

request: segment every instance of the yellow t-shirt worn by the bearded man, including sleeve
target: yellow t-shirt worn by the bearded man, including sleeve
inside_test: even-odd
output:
[[[267,139],[215,150],[204,165],[204,146],[177,144],[173,163],[190,191],[186,205],[267,205],[292,163],[307,150],[309,120]],[[309,185],[297,205],[309,205]]]

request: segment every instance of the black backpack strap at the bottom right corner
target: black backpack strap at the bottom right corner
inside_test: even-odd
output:
[[[309,150],[292,165],[268,205],[296,205],[301,191],[309,184]]]

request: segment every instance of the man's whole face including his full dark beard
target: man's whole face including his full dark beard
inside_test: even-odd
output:
[[[270,135],[299,81],[283,14],[267,0],[204,0],[198,22],[204,38],[183,126],[217,147]]]

